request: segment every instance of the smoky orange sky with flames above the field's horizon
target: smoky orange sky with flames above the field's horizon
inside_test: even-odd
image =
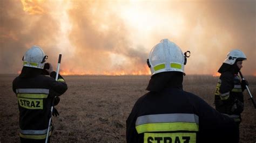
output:
[[[18,73],[41,46],[63,74],[149,74],[146,59],[161,39],[191,51],[186,74],[214,74],[231,49],[256,76],[256,1],[0,1],[0,74]],[[56,68],[55,68],[56,69]]]

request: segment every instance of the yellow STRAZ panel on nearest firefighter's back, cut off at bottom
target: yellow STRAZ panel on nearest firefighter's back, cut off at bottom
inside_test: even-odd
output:
[[[196,143],[196,133],[144,133],[144,143],[190,142]]]

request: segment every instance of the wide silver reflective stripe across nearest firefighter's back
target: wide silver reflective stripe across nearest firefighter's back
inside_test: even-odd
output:
[[[173,114],[156,114],[140,116],[136,120],[136,126],[147,123],[171,123],[171,122],[190,122],[199,123],[197,115],[188,113],[173,113]]]

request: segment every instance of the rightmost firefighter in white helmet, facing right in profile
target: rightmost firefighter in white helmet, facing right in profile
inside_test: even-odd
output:
[[[244,95],[248,82],[240,81],[238,72],[242,68],[245,54],[233,49],[227,54],[218,72],[221,74],[215,91],[215,109],[234,119],[237,126],[241,123],[241,112],[244,110]]]

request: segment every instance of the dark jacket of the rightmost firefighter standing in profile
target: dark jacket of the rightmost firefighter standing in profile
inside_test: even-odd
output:
[[[230,71],[222,73],[215,92],[216,110],[240,122],[240,113],[244,110],[244,90],[245,86],[241,86],[237,74]]]

